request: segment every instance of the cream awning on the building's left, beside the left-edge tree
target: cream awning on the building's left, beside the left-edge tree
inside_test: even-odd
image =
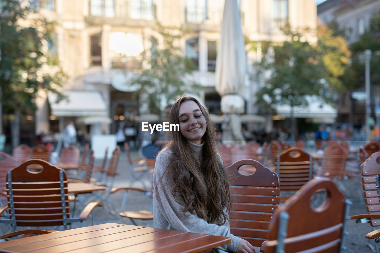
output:
[[[107,116],[107,106],[100,92],[95,90],[65,90],[62,92],[67,96],[59,103],[55,103],[57,95],[49,93],[51,114],[55,116]]]

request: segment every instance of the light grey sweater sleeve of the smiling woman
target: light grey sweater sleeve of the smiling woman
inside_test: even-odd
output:
[[[218,251],[228,249],[236,252],[240,238],[230,233],[230,225],[228,222],[219,226],[207,223],[207,221],[199,218],[195,213],[186,212],[184,214],[182,212],[183,205],[178,203],[172,194],[174,187],[172,176],[166,170],[170,163],[170,156],[170,150],[165,149],[162,150],[156,158],[153,174],[153,183],[155,186],[153,200],[155,228],[231,237],[229,244],[221,245],[216,249]]]

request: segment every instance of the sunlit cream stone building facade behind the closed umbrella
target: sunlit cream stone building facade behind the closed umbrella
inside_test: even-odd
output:
[[[252,41],[286,40],[280,30],[286,23],[291,27],[317,27],[313,0],[237,3],[243,34]],[[120,120],[127,121],[128,126],[133,113],[141,112],[141,94],[124,84],[128,73],[141,65],[140,53],[162,44],[156,22],[192,30],[180,42],[183,53],[196,65],[192,75],[204,87],[201,99],[211,112],[220,112],[214,72],[223,5],[221,0],[49,0],[41,12],[57,24],[56,52],[69,76],[63,89],[69,99],[81,92],[87,105],[77,104],[79,110],[75,111],[70,102],[54,106],[49,95],[42,96],[36,112],[36,133],[49,131],[52,124],[62,131],[69,119],[76,120],[77,128],[93,133],[114,134]],[[255,110],[253,94],[260,84],[249,75],[254,72],[252,63],[260,57],[259,51],[247,53],[247,111]],[[105,109],[94,113],[93,106]]]

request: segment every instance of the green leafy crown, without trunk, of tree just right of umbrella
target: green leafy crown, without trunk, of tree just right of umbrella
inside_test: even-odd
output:
[[[278,104],[307,106],[306,95],[329,98],[328,87],[323,79],[326,68],[318,48],[304,40],[300,32],[284,30],[289,40],[273,46],[274,59],[264,57],[263,70],[271,75],[257,93],[258,102],[268,103],[271,108]]]

